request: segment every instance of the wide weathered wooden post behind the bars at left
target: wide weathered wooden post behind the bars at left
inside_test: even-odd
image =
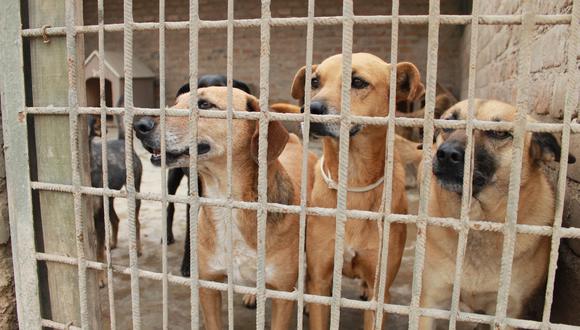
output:
[[[73,0],[28,0],[29,25],[31,28],[65,26],[65,7]],[[82,1],[73,1],[76,25],[82,25]],[[77,35],[77,91],[79,105],[85,102],[84,38]],[[30,39],[30,63],[32,99],[34,106],[68,106],[69,81],[67,75],[66,38],[50,37]],[[79,117],[79,144],[82,185],[90,186],[89,142],[86,116]],[[72,184],[71,143],[69,118],[60,115],[34,116],[34,134],[38,181]],[[34,151],[33,151],[34,152]],[[33,169],[34,170],[34,169]],[[41,221],[43,246],[46,253],[77,256],[73,195],[70,193],[40,191],[40,210],[35,210],[36,220]],[[95,231],[90,198],[84,196],[82,203],[84,232],[79,239],[83,243],[87,259],[95,260]],[[38,212],[39,211],[39,212]],[[37,228],[39,228],[37,226]],[[75,326],[81,325],[78,267],[47,262],[49,297],[43,297],[43,317]],[[46,289],[46,288],[45,288]],[[101,329],[100,303],[96,273],[87,271],[88,326]],[[48,301],[46,301],[48,298]],[[48,313],[47,313],[48,311]],[[49,315],[47,315],[49,314]]]

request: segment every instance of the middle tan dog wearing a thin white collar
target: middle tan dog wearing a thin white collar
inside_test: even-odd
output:
[[[313,114],[339,114],[341,111],[342,56],[336,55],[319,65],[313,65]],[[385,117],[389,113],[389,76],[391,65],[380,58],[365,53],[352,56],[351,112],[356,115]],[[298,71],[292,85],[292,96],[303,102],[305,68]],[[411,63],[397,65],[397,100],[412,100],[421,95],[423,85],[417,68]],[[338,182],[339,123],[312,123],[311,131],[323,137],[322,159],[316,165],[312,206],[336,208],[337,191],[323,178]],[[363,192],[348,192],[347,208],[351,210],[378,211],[381,208],[386,153],[386,127],[353,125],[350,130],[348,162],[349,189],[376,185]],[[322,169],[322,170],[321,170]],[[378,183],[378,185],[377,185]],[[367,189],[363,189],[367,190]],[[392,212],[405,214],[405,172],[395,154],[393,173]],[[311,294],[329,295],[334,265],[335,218],[310,216],[308,218],[306,253],[308,262],[307,289]],[[387,290],[399,269],[405,245],[406,227],[392,224],[389,240]],[[346,223],[343,273],[363,280],[371,298],[375,295],[375,269],[380,245],[379,230],[375,221],[350,219]],[[328,329],[328,306],[310,305],[310,329]],[[365,329],[371,329],[374,313],[365,311]]]

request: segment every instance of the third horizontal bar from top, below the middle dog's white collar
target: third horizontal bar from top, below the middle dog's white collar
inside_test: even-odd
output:
[[[73,193],[74,186],[56,184],[56,183],[46,183],[33,181],[30,183],[32,189],[35,190],[50,190],[59,191],[66,193]],[[113,190],[104,188],[93,188],[81,186],[79,193],[85,195],[93,196],[108,196],[108,197],[120,197],[127,198],[127,192],[124,190]],[[155,193],[137,193],[136,198],[142,201],[162,201],[161,194]],[[182,203],[182,204],[192,204],[193,198],[178,195],[167,195],[167,201],[170,203]],[[260,209],[260,203],[258,202],[243,202],[243,201],[228,201],[227,199],[215,199],[215,198],[205,198],[200,197],[199,202],[201,205],[207,206],[217,206],[217,207],[229,207],[235,209],[246,209],[246,210],[258,210]],[[266,210],[273,213],[291,213],[300,214],[301,207],[299,205],[285,205],[277,203],[266,203]],[[333,208],[323,208],[323,207],[307,207],[306,214],[308,215],[319,215],[325,217],[335,217],[337,215],[337,210]],[[362,211],[362,210],[346,210],[346,215],[348,218],[352,219],[364,219],[364,220],[383,220],[383,213],[372,212],[372,211]],[[414,224],[417,222],[416,215],[409,214],[390,214],[387,216],[386,221],[392,223],[406,223]],[[461,230],[462,223],[459,219],[455,218],[439,218],[439,217],[429,217],[427,219],[427,224],[436,225],[441,227],[451,228],[453,230]],[[469,222],[469,229],[478,231],[492,231],[492,232],[502,232],[505,225],[503,223],[486,221],[486,220],[471,220]],[[541,235],[541,236],[551,236],[553,228],[550,226],[536,226],[536,225],[523,225],[518,224],[516,226],[517,232],[520,234],[530,234],[530,235]],[[560,234],[563,238],[580,238],[580,228],[561,228]]]

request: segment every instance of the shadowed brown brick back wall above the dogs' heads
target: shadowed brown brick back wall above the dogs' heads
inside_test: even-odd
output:
[[[167,21],[187,21],[187,2],[178,0],[166,1]],[[443,1],[442,13],[459,14],[463,12],[462,1]],[[85,24],[97,23],[96,1],[84,2]],[[157,1],[135,1],[133,5],[134,20],[137,22],[158,21],[159,4]],[[227,1],[201,0],[201,19],[226,19]],[[383,0],[357,1],[357,15],[389,14],[391,4]],[[272,17],[305,17],[307,0],[273,1]],[[427,14],[428,2],[409,0],[401,3],[401,14]],[[340,0],[316,1],[317,16],[335,16],[342,14]],[[235,3],[235,18],[260,17],[260,1],[244,0]],[[122,0],[105,0],[105,23],[122,23]],[[459,67],[456,65],[459,54],[459,40],[463,27],[441,26],[439,52],[439,82],[445,87],[459,93]],[[388,59],[390,54],[390,28],[388,26],[355,26],[353,50],[370,52]],[[399,60],[408,60],[417,64],[425,72],[427,63],[427,26],[406,25],[399,29]],[[177,89],[188,80],[189,32],[167,31],[166,34],[166,97],[173,100]],[[342,26],[315,27],[314,63],[340,53]],[[159,39],[155,31],[135,32],[135,56],[141,58],[151,69],[159,72]],[[107,33],[106,49],[123,49],[123,33]],[[199,36],[199,69],[200,74],[226,72],[226,31],[202,30]],[[86,38],[86,52],[89,54],[97,47],[97,36]],[[291,101],[290,86],[297,69],[305,64],[306,27],[275,27],[271,30],[270,62],[270,99],[272,101]],[[259,86],[260,64],[260,30],[235,29],[234,31],[234,77],[248,82],[257,94]]]

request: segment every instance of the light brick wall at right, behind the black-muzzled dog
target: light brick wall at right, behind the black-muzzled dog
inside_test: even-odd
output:
[[[537,1],[539,14],[570,14],[571,0]],[[522,12],[522,1],[480,1],[481,14],[513,14]],[[517,63],[521,26],[480,26],[476,97],[495,98],[514,104],[517,96]],[[461,40],[462,85],[461,96],[467,97],[467,68],[470,33]],[[537,26],[533,36],[531,62],[531,89],[529,91],[532,115],[544,122],[561,122],[567,83],[567,56],[569,26]],[[578,67],[578,64],[576,65]],[[575,91],[578,100],[578,89]],[[576,101],[575,109],[578,109]],[[570,151],[580,155],[580,134],[572,135]],[[579,158],[580,159],[580,158]],[[551,163],[547,172],[556,182],[558,163]],[[580,227],[580,161],[568,167],[564,225]],[[556,300],[553,321],[580,325],[578,302],[580,294],[580,240],[564,240],[560,249],[559,271],[556,280]],[[568,289],[567,289],[568,288]]]

